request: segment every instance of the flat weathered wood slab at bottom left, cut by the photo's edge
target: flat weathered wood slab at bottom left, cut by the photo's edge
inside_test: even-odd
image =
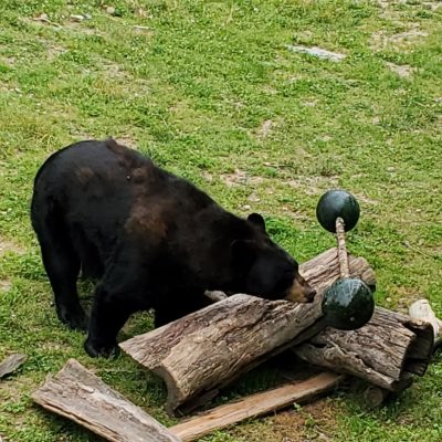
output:
[[[75,359],[32,394],[43,408],[113,442],[180,442],[139,407],[104,383]]]

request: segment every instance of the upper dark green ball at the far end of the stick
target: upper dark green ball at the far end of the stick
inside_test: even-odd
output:
[[[325,192],[316,207],[319,224],[329,232],[336,232],[336,218],[340,217],[345,230],[351,230],[359,220],[360,208],[356,198],[346,190],[334,189]]]

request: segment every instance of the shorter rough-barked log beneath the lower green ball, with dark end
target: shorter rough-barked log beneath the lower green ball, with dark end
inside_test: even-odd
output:
[[[425,372],[432,346],[430,324],[377,307],[364,327],[351,332],[327,327],[292,350],[308,362],[401,391],[413,373]]]

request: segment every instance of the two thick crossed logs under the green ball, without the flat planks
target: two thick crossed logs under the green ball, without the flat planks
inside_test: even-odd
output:
[[[349,271],[351,277],[375,286],[366,260],[349,256]],[[317,291],[313,304],[239,294],[120,347],[165,380],[169,413],[189,412],[251,368],[292,347],[302,359],[387,390],[403,390],[412,373],[423,375],[433,345],[429,324],[377,308],[358,330],[325,328],[320,302],[324,290],[339,276],[337,250],[303,264],[301,273]]]

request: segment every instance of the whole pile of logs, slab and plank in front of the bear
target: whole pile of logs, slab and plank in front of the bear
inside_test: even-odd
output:
[[[354,256],[348,261],[350,276],[375,288],[367,261]],[[409,387],[413,375],[425,372],[434,348],[432,322],[377,307],[371,320],[357,330],[329,328],[320,303],[325,290],[339,277],[337,249],[303,264],[301,273],[317,291],[312,304],[238,294],[120,347],[165,380],[166,409],[171,414],[207,403],[220,389],[282,351],[324,368],[307,380],[252,394],[169,429],[75,360],[49,377],[33,399],[109,441],[192,441],[295,401],[312,400],[335,388],[346,375],[367,380],[367,399],[379,403],[389,391]]]

